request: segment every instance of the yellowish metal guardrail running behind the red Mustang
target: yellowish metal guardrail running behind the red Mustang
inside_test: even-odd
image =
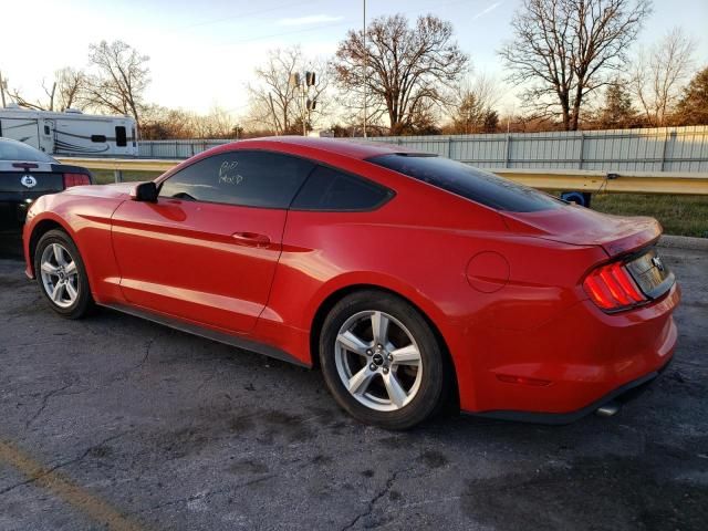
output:
[[[112,170],[116,183],[123,171],[164,173],[181,160],[126,158],[60,158],[64,164]],[[622,171],[571,169],[486,168],[497,175],[542,190],[577,190],[620,194],[708,195],[708,173]]]

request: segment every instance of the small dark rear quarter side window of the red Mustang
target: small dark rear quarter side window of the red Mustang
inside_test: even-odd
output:
[[[371,210],[393,192],[375,183],[317,166],[292,202],[294,210]]]

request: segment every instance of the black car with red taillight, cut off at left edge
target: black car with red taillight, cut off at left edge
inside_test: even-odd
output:
[[[32,146],[0,137],[0,232],[19,233],[38,197],[92,183],[86,168],[60,164]]]

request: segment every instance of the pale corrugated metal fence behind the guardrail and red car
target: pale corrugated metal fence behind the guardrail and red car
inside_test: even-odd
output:
[[[653,129],[384,136],[373,142],[482,168],[708,171],[708,125]],[[140,157],[188,158],[229,140],[145,140]]]

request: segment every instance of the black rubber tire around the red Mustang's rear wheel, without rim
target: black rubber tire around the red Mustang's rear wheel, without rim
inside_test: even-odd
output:
[[[413,336],[419,352],[423,372],[417,392],[413,394],[410,402],[395,410],[378,410],[360,402],[350,393],[337,368],[336,339],[340,330],[347,322],[351,322],[351,319],[356,319],[355,315],[368,311],[385,312],[403,324],[407,329],[406,332]],[[366,361],[373,360],[373,357],[368,357],[368,354],[360,357],[364,360],[360,363],[368,364],[369,367],[374,366]],[[356,356],[354,358],[357,360]],[[407,301],[383,291],[358,291],[345,296],[334,305],[326,316],[320,334],[320,363],[330,393],[339,405],[357,420],[386,429],[408,429],[424,421],[440,409],[450,387],[449,375],[451,373],[447,357],[428,322]],[[393,362],[391,367],[393,375]],[[400,367],[396,371],[399,369]],[[381,371],[384,368],[377,367],[377,372]],[[378,385],[383,385],[384,376],[379,374],[374,376],[374,378],[377,377],[382,378]],[[392,395],[388,394],[388,396]]]

